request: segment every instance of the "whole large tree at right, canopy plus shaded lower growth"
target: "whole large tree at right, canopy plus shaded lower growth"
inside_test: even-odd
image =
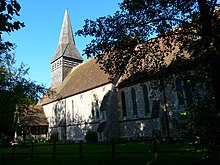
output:
[[[96,56],[112,78],[139,72],[157,73],[162,79],[179,74],[191,80],[194,92],[198,86],[204,88],[207,93],[197,92],[197,104],[189,106],[188,112],[191,119],[198,119],[201,116],[194,113],[197,108],[206,109],[211,116],[208,121],[215,119],[214,123],[219,123],[217,7],[217,0],[124,0],[113,16],[85,20],[77,34],[93,37],[84,52],[88,57]],[[215,140],[210,142],[210,138],[209,142],[215,143],[219,134],[216,125],[212,125],[215,132],[204,136],[198,122],[201,121],[190,122],[194,137],[210,135]]]

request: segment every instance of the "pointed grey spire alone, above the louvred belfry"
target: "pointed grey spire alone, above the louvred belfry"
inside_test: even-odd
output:
[[[62,56],[83,61],[82,56],[76,49],[68,9],[66,9],[64,14],[58,47],[54,53],[51,63],[53,63],[55,60],[59,59]]]

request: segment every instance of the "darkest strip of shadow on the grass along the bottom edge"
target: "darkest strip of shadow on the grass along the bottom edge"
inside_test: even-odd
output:
[[[18,157],[15,159],[0,159],[1,165],[217,165],[220,160],[203,159],[197,153],[170,153],[159,154],[159,159],[154,160],[154,156],[148,155],[118,155],[112,158],[110,155],[84,155],[82,158],[66,155],[57,156],[53,160],[48,156]]]

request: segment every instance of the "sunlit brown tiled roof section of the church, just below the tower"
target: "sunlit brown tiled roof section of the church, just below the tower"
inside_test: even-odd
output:
[[[96,59],[92,58],[73,68],[63,83],[56,89],[48,91],[39,104],[45,105],[111,83],[109,75],[99,66]]]

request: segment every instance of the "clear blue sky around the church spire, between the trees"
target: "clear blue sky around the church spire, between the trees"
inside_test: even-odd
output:
[[[18,0],[22,9],[20,17],[25,28],[15,31],[5,39],[17,45],[16,63],[30,67],[28,77],[37,84],[50,86],[50,60],[56,50],[65,9],[68,8],[73,32],[81,29],[85,19],[95,19],[113,14],[122,0]],[[89,39],[75,37],[81,54]],[[83,56],[86,60],[87,58]]]

